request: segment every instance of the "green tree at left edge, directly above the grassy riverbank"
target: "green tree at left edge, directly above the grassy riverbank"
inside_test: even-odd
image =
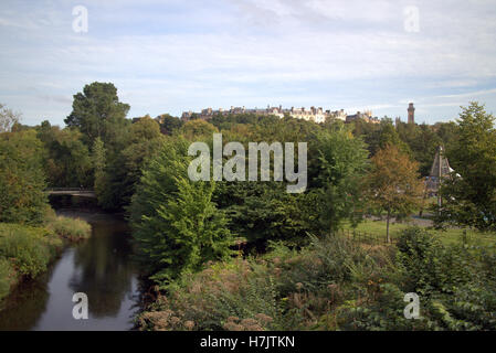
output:
[[[42,222],[48,207],[42,151],[34,130],[0,135],[0,222]]]

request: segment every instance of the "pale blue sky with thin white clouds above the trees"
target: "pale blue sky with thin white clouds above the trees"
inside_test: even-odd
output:
[[[0,43],[0,103],[27,125],[64,126],[92,82],[114,83],[128,118],[282,105],[404,121],[413,101],[434,124],[471,100],[496,113],[495,0],[2,0]]]

